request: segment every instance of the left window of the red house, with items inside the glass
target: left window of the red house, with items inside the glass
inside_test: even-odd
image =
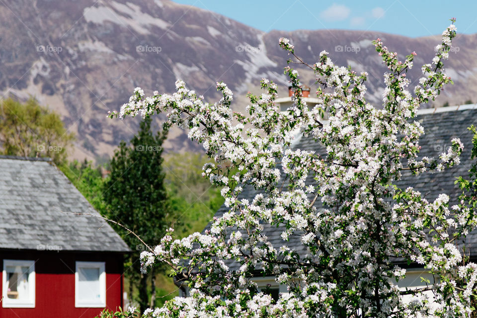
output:
[[[3,260],[2,297],[4,308],[35,307],[35,262]]]

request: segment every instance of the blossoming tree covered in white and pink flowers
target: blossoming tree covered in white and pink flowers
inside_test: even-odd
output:
[[[190,297],[177,297],[163,308],[147,310],[146,317],[467,317],[471,315],[477,266],[462,265],[456,238],[472,231],[475,210],[464,201],[449,207],[449,197],[428,202],[412,188],[395,184],[403,170],[413,174],[441,171],[459,164],[462,143],[439,158],[419,158],[423,128],[412,118],[420,104],[433,100],[451,82],[443,70],[456,35],[452,24],[443,32],[432,64],[422,67],[422,78],[408,89],[406,71],[414,52],[404,61],[380,39],[374,41],[388,72],[383,107],[365,100],[367,73],[360,75],[333,64],[320,53],[314,65],[303,62],[288,39],[280,46],[290,62],[313,69],[321,100],[309,109],[301,97],[297,70],[285,68],[296,94],[294,105],[280,112],[274,103],[277,85],[261,81],[261,95],[249,93],[250,116],[231,110],[232,91],[217,83],[223,97],[210,104],[181,80],[173,94],[145,97],[136,88],[129,102],[111,117],[150,116],[164,112],[165,126],[188,129],[190,139],[202,143],[216,164],[206,164],[203,175],[223,187],[229,211],[214,218],[210,231],[172,239],[169,230],[160,245],[141,255],[144,270],[167,263],[181,275]],[[323,113],[328,114],[324,121]],[[325,152],[292,149],[297,131],[314,138]],[[231,172],[236,167],[236,173]],[[312,175],[313,182],[306,179]],[[462,180],[464,182],[465,180]],[[242,186],[257,189],[251,201],[240,200]],[[467,184],[469,185],[469,184]],[[323,208],[317,209],[321,201]],[[264,225],[284,229],[282,246],[266,237]],[[151,226],[154,226],[152,224]],[[432,228],[433,231],[429,231]],[[287,246],[300,235],[307,254]],[[420,264],[438,277],[425,288],[399,290],[405,269],[392,261],[401,257]],[[228,262],[240,263],[229,271]],[[287,285],[289,293],[274,301],[258,292],[250,280],[263,269]],[[457,278],[456,278],[457,277]],[[432,291],[429,297],[426,291]],[[406,300],[402,295],[408,295]],[[133,311],[133,309],[130,309]],[[128,312],[128,315],[132,312]]]

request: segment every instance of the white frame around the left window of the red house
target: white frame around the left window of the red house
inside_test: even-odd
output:
[[[7,297],[8,284],[7,284],[7,266],[23,266],[28,267],[28,300],[11,299]],[[3,271],[2,271],[2,292],[3,297],[1,306],[3,308],[35,308],[35,261],[33,260],[16,260],[16,259],[4,259]]]

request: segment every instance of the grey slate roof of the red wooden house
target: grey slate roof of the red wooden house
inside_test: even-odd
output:
[[[0,156],[0,248],[129,251],[49,160]]]

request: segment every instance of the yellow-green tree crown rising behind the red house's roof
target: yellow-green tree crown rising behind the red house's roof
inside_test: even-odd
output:
[[[4,155],[49,157],[56,164],[67,158],[74,139],[60,116],[30,98],[26,103],[0,101],[0,144]]]

